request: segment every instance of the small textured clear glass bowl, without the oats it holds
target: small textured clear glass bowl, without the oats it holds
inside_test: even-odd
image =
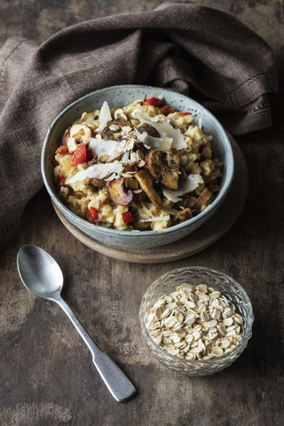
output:
[[[210,359],[183,359],[172,355],[162,349],[151,337],[146,329],[146,321],[153,305],[161,296],[176,290],[182,284],[189,284],[193,288],[202,284],[219,291],[222,296],[233,304],[235,312],[243,319],[243,335],[241,341],[225,354]],[[180,372],[184,375],[213,375],[240,357],[241,352],[248,345],[252,335],[254,314],[248,295],[241,285],[223,272],[214,271],[209,268],[198,266],[185,267],[165,273],[155,280],[146,290],[142,298],[139,310],[139,319],[142,335],[144,336],[149,350],[165,367]]]

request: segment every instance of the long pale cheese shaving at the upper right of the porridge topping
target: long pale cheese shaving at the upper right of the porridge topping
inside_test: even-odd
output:
[[[133,111],[133,116],[138,118],[140,122],[146,122],[146,124],[153,126],[154,129],[159,132],[161,138],[172,138],[172,148],[182,149],[187,147],[182,132],[179,129],[172,127],[170,122],[154,122],[151,120],[150,115],[144,113],[143,111],[139,111],[138,109]]]

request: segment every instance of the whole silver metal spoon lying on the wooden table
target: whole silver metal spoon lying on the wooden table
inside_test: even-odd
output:
[[[107,353],[101,351],[91,340],[90,335],[87,334],[75,314],[62,299],[60,293],[63,287],[63,274],[53,257],[42,248],[26,245],[19,250],[17,265],[20,279],[33,295],[59,304],[67,314],[90,349],[93,363],[113,397],[118,402],[132,398],[136,392],[133,384]]]

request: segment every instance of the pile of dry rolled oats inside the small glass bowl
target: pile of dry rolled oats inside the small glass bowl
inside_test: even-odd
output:
[[[186,283],[154,304],[146,328],[163,350],[183,359],[211,359],[241,341],[243,319],[225,296]]]

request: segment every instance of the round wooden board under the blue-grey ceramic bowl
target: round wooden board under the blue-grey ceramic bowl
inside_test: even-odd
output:
[[[59,219],[75,238],[93,250],[114,259],[138,264],[159,264],[193,256],[221,238],[239,217],[248,194],[248,169],[240,147],[230,136],[233,146],[235,173],[233,185],[225,201],[212,217],[193,233],[172,244],[158,248],[125,248],[95,241],[67,221],[53,203]]]

